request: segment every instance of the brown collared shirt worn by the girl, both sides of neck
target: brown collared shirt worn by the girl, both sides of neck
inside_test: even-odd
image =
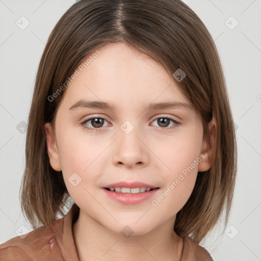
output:
[[[0,245],[1,261],[80,261],[73,240],[72,224],[79,216],[76,204],[50,226],[41,226],[25,238],[18,236]],[[213,261],[210,254],[190,238],[183,239],[180,261]]]

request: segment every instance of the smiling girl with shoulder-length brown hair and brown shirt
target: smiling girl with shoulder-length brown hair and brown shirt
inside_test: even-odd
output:
[[[199,243],[223,210],[227,224],[236,162],[199,17],[179,0],[77,1],[36,77],[21,185],[34,230],[1,260],[213,260]]]

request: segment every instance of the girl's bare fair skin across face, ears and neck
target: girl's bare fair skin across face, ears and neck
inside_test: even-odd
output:
[[[210,123],[212,138],[206,142],[194,109],[146,110],[150,102],[190,102],[162,66],[136,49],[117,43],[100,51],[64,91],[55,130],[50,123],[44,125],[50,165],[62,170],[68,192],[80,207],[73,224],[77,252],[81,260],[180,260],[183,242],[173,231],[176,213],[189,199],[198,171],[211,167],[216,123]],[[117,110],[69,110],[79,99],[112,102]],[[94,131],[84,129],[80,122],[90,116],[105,118],[103,125],[98,128],[89,121],[85,125]],[[180,124],[170,129],[173,121],[157,121],[164,117]],[[120,128],[126,120],[134,126],[129,134]],[[193,171],[153,206],[151,201],[202,154]],[[68,181],[75,172],[82,178],[76,187]],[[153,198],[123,205],[102,188],[124,180],[160,189]],[[129,238],[121,233],[126,225],[133,230]]]

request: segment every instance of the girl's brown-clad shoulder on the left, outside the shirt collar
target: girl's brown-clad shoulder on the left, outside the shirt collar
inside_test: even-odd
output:
[[[52,245],[53,244],[53,245]],[[0,245],[0,260],[39,260],[57,255],[58,249],[51,251],[55,244],[55,235],[49,226],[41,226],[21,236],[12,238]],[[49,257],[49,258],[48,258]],[[54,260],[54,259],[51,259]]]

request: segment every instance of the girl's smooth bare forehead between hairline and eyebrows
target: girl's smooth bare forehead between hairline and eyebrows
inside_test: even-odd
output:
[[[88,55],[80,69],[77,67],[78,75],[66,88],[65,102],[91,98],[122,105],[153,101],[189,103],[171,75],[135,48],[116,43],[99,51],[99,55]]]

